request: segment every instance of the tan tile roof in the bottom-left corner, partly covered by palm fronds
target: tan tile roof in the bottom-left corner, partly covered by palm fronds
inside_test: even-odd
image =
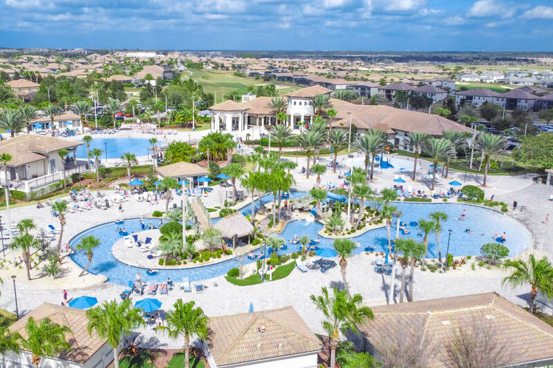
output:
[[[92,336],[88,334],[86,311],[46,302],[14,322],[10,326],[10,331],[17,331],[21,336],[26,337],[25,325],[30,317],[34,318],[37,322],[48,317],[52,322],[71,329],[71,332],[66,333],[66,340],[71,345],[71,351],[64,351],[54,358],[84,363],[107,341],[101,339],[95,332],[92,333]]]

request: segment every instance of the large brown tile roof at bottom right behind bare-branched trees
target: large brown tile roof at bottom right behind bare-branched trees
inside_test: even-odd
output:
[[[360,327],[366,338],[377,342],[384,338],[386,326],[424,329],[421,338],[431,337],[437,345],[431,368],[451,367],[447,343],[459,326],[482,321],[493,323],[500,331],[496,338],[508,342],[509,364],[553,358],[553,327],[509,302],[497,293],[482,293],[452,298],[382,305],[371,308],[375,319]]]

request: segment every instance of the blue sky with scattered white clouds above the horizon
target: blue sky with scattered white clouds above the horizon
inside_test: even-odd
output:
[[[553,51],[553,0],[0,0],[0,46]]]

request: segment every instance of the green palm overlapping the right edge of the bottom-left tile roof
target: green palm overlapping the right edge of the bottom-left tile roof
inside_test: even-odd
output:
[[[144,318],[140,315],[140,309],[133,308],[130,299],[123,300],[118,304],[117,300],[104,302],[102,306],[88,309],[88,334],[92,331],[102,339],[107,339],[113,348],[113,362],[115,368],[119,368],[119,357],[117,347],[123,336],[128,336],[133,329],[145,325]]]

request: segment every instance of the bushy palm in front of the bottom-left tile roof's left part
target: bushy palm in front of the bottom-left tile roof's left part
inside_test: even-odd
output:
[[[71,333],[71,329],[64,325],[58,325],[46,317],[38,324],[35,318],[29,317],[25,325],[27,338],[21,337],[19,345],[21,349],[30,351],[32,365],[39,367],[43,356],[56,356],[64,351],[70,351],[71,345],[66,340],[65,334]]]

